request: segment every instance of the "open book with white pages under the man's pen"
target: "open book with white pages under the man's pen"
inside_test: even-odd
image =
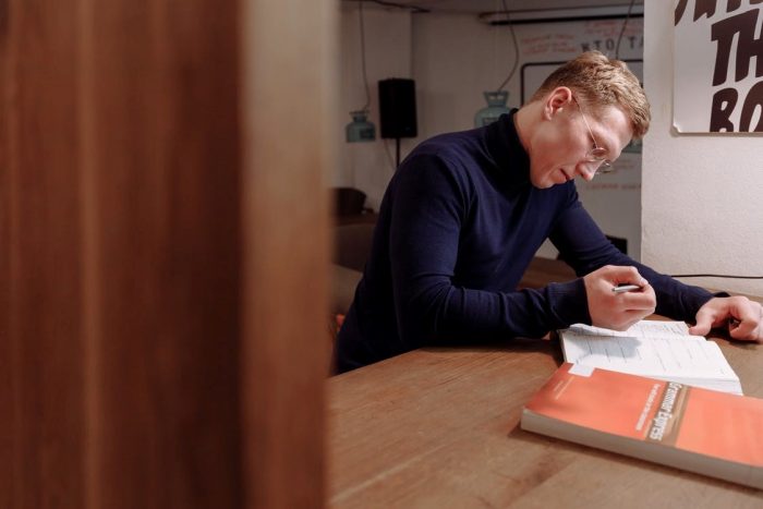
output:
[[[720,348],[683,322],[641,320],[626,331],[576,324],[559,330],[567,362],[742,393]]]

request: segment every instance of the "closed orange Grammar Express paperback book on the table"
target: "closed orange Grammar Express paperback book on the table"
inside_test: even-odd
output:
[[[763,400],[565,363],[522,429],[763,489]]]

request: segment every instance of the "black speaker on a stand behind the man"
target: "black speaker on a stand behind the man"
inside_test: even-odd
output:
[[[382,137],[416,136],[416,89],[413,80],[390,77],[379,81]]]

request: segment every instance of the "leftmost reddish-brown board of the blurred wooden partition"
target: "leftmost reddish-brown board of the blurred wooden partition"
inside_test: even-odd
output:
[[[77,19],[55,0],[2,3],[0,505],[76,506],[85,449]]]

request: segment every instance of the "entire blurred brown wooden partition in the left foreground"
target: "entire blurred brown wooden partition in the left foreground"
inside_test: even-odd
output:
[[[0,507],[322,505],[336,13],[303,3],[0,0]]]

